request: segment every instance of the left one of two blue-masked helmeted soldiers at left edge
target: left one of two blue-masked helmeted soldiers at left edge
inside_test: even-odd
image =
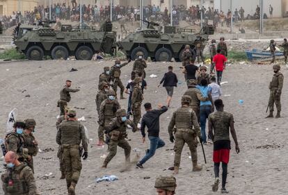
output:
[[[28,150],[24,148],[24,138],[22,136],[25,128],[24,121],[15,121],[13,128],[13,132],[8,133],[5,137],[6,152],[13,151],[17,153],[20,162],[26,162]]]

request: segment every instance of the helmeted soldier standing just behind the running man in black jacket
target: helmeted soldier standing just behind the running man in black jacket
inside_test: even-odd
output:
[[[141,86],[139,85],[141,80],[142,79],[140,77],[136,77],[134,79],[134,87],[131,97],[131,110],[133,113],[133,122],[136,126],[141,119],[141,104],[144,99]]]

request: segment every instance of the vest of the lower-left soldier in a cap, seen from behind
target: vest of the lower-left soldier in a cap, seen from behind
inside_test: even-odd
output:
[[[61,123],[61,144],[79,145],[81,129],[79,121],[63,121]]]

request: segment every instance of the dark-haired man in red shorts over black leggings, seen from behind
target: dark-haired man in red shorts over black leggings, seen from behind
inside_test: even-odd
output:
[[[209,135],[214,141],[214,173],[215,173],[215,182],[212,185],[213,192],[218,190],[219,180],[219,168],[220,162],[222,162],[222,188],[221,193],[227,194],[225,188],[226,179],[227,179],[227,165],[230,157],[230,132],[235,142],[236,152],[239,153],[240,149],[237,142],[237,135],[234,129],[234,118],[233,115],[224,112],[224,105],[221,99],[217,99],[214,102],[216,107],[216,112],[211,113],[208,117],[208,127]]]

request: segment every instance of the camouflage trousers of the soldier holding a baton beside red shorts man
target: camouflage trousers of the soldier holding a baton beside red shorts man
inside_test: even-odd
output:
[[[191,152],[192,162],[197,162],[197,141],[193,136],[192,132],[176,130],[175,133],[175,158],[174,158],[174,167],[180,166],[181,153],[184,147],[184,144],[188,144],[189,150]]]

